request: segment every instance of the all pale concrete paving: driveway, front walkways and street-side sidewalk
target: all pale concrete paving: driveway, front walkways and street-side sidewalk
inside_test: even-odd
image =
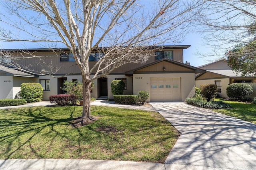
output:
[[[50,102],[34,103],[49,105]],[[91,105],[158,111],[180,132],[164,164],[112,160],[0,160],[2,170],[254,170],[256,125],[182,102],[150,103],[153,107],[118,105],[96,100]],[[22,106],[22,107],[27,107]],[[31,106],[31,105],[30,105]]]

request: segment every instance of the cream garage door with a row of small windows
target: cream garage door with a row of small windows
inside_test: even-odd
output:
[[[180,77],[150,78],[150,101],[180,101]]]

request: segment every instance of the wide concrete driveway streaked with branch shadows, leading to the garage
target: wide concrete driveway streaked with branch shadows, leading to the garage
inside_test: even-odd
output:
[[[167,169],[256,169],[255,124],[186,103],[150,104],[181,133]]]

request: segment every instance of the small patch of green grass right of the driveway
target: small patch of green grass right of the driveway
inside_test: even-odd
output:
[[[225,103],[228,103],[232,108],[231,109],[214,109],[214,111],[256,124],[256,105],[255,104],[238,102],[238,101],[225,101],[223,99],[216,99],[216,100],[224,101]]]

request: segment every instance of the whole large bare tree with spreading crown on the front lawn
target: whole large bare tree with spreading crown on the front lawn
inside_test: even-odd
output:
[[[94,120],[90,115],[91,82],[125,63],[145,62],[152,45],[180,42],[201,5],[200,1],[186,0],[150,1],[151,5],[142,2],[1,0],[0,21],[13,30],[1,28],[0,40],[45,43],[46,48],[59,44],[68,47],[81,70],[82,123],[88,123]],[[103,52],[104,56],[89,68],[93,50]],[[90,78],[93,71],[95,74]]]

